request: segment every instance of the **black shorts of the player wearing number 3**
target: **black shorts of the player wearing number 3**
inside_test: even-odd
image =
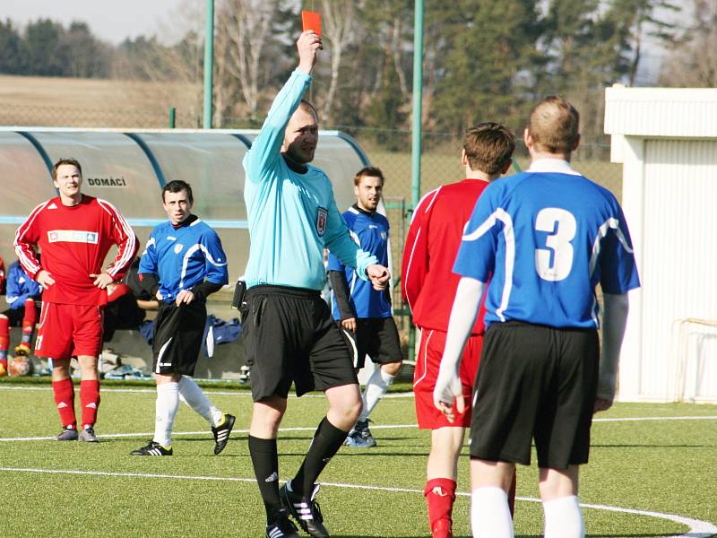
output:
[[[490,325],[473,394],[471,458],[565,469],[586,464],[597,395],[595,329]]]

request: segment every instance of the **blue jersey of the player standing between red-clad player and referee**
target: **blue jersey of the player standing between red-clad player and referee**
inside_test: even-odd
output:
[[[151,230],[139,273],[158,276],[160,294],[166,303],[205,278],[215,284],[229,283],[227,256],[219,236],[200,219],[177,229],[167,221]]]

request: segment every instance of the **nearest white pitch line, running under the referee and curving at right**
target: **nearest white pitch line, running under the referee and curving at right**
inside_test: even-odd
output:
[[[77,475],[91,475],[91,476],[109,476],[109,477],[120,477],[120,478],[168,478],[173,480],[195,480],[195,481],[212,481],[212,482],[246,482],[254,483],[254,478],[239,478],[239,477],[225,477],[225,476],[190,476],[183,474],[160,474],[160,473],[108,473],[105,471],[75,471],[75,470],[59,470],[59,469],[32,469],[24,467],[0,467],[0,471],[5,473],[49,473],[49,474],[77,474]],[[373,490],[373,491],[388,491],[398,493],[420,493],[423,494],[422,490],[415,490],[412,488],[386,488],[383,486],[367,486],[361,484],[344,484],[340,482],[321,482],[322,486],[329,486],[334,488],[345,488],[352,490]],[[470,497],[470,493],[458,492],[456,495],[461,497]],[[517,500],[526,502],[540,502],[540,499],[532,499],[530,497],[516,497]],[[634,514],[635,516],[649,516],[657,517],[660,519],[667,519],[680,525],[687,525],[689,530],[687,534],[670,534],[669,538],[709,538],[713,534],[717,534],[717,526],[713,525],[708,521],[701,521],[699,519],[693,519],[691,517],[675,516],[672,514],[661,514],[660,512],[652,512],[649,510],[635,510],[633,508],[619,508],[610,507],[607,505],[593,505],[584,504],[580,505],[583,508],[592,508],[595,510],[605,510],[609,512],[620,512],[623,514]],[[668,537],[664,537],[668,538]]]

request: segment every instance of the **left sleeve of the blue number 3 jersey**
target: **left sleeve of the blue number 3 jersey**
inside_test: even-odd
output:
[[[471,219],[463,229],[461,246],[455,258],[454,273],[488,282],[496,263],[497,235],[503,223],[497,219],[488,189],[478,199]]]

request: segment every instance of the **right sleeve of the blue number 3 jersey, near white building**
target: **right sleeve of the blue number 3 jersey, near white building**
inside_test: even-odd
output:
[[[622,209],[615,202],[615,219],[600,242],[600,288],[603,293],[621,295],[640,287],[630,231]]]

